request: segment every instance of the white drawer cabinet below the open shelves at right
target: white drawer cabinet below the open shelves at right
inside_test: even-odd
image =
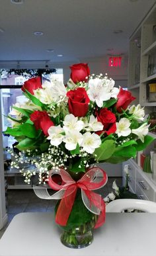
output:
[[[128,165],[130,181],[128,183],[130,191],[137,194],[138,198],[156,202],[156,181],[152,179],[150,173],[144,173],[137,163],[130,159],[123,163],[122,182],[125,185],[126,173],[124,165]]]

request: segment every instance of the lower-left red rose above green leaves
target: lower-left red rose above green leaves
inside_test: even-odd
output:
[[[46,111],[34,111],[30,114],[30,120],[34,122],[36,130],[41,129],[46,136],[48,136],[50,126],[54,126],[54,122],[52,122]]]

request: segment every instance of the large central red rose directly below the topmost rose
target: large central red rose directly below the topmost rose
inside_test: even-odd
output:
[[[67,92],[68,109],[74,116],[85,116],[89,109],[89,97],[84,88],[77,88]]]

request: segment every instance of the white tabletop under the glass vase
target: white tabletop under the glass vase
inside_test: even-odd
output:
[[[59,241],[60,230],[49,212],[21,213],[0,239],[0,256],[155,256],[156,214],[108,213],[94,241],[70,249]]]

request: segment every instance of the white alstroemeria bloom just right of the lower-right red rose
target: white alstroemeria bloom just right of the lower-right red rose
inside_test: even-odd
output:
[[[121,118],[119,122],[116,122],[116,134],[118,134],[118,137],[128,136],[130,133],[130,121],[128,118]]]

